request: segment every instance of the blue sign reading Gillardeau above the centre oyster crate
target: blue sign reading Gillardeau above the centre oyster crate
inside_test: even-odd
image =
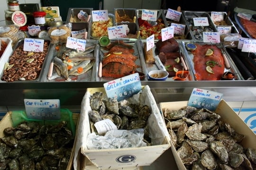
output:
[[[115,98],[118,101],[128,99],[141,90],[139,74],[134,73],[104,83],[104,88],[108,98]]]

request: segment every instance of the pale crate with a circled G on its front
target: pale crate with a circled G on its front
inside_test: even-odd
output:
[[[77,133],[78,136],[73,161],[74,169],[97,167],[101,170],[137,170],[140,166],[150,165],[171,146],[170,136],[165,126],[165,122],[162,119],[162,115],[156,105],[149,86],[146,85],[142,87],[141,93],[135,95],[139,96],[137,98],[139,104],[147,105],[151,110],[151,114],[146,120],[146,125],[149,129],[148,131],[152,145],[130,148],[88,149],[88,136],[92,133],[89,117],[89,112],[92,110],[90,99],[96,92],[102,92],[106,95],[104,88],[87,88],[87,92],[82,99],[81,115]],[[96,140],[94,141],[95,143],[97,142]],[[81,153],[86,157],[87,161],[81,159]],[[84,161],[82,165],[81,161]]]

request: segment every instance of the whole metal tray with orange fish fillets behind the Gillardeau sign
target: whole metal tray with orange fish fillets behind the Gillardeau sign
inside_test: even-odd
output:
[[[122,76],[138,72],[141,80],[145,80],[145,64],[141,40],[112,39],[110,44],[101,47],[96,68],[102,63],[101,76],[96,69],[96,81],[110,81]]]

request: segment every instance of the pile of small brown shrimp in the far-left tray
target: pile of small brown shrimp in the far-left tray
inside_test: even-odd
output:
[[[49,48],[49,41],[44,41],[42,52],[23,51],[24,41],[20,40],[16,49],[5,63],[2,81],[38,80]]]

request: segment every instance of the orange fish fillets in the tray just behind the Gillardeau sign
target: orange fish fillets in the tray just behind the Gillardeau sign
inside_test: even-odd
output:
[[[139,57],[139,42],[112,41],[102,48],[102,78],[106,80],[130,75],[136,71],[143,72]],[[102,79],[101,78],[101,79]]]

